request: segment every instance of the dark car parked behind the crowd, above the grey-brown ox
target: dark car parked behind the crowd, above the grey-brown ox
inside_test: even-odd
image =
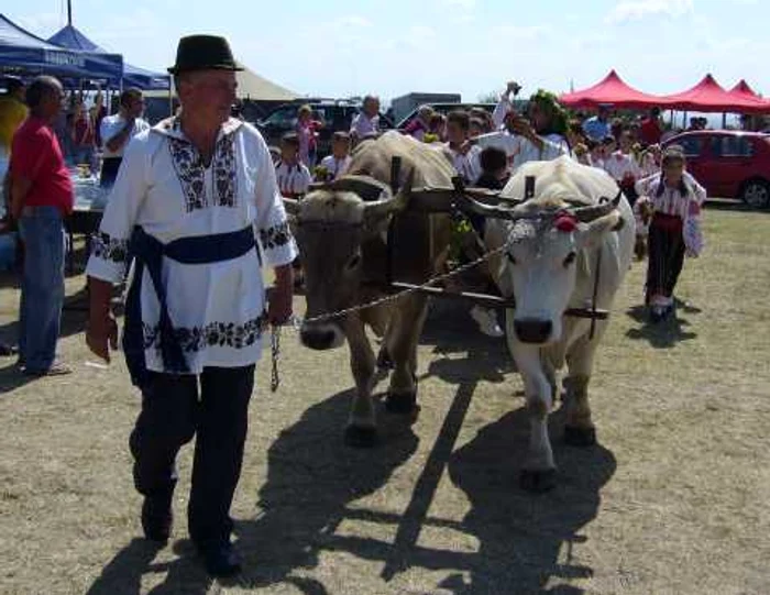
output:
[[[270,145],[278,145],[280,137],[287,132],[293,132],[297,126],[297,110],[301,106],[310,106],[312,119],[321,122],[318,131],[318,156],[331,153],[331,137],[334,132],[350,131],[353,118],[361,111],[360,103],[343,100],[330,101],[308,101],[307,103],[286,103],[273,110],[267,118],[256,123],[262,135]],[[380,115],[380,128],[382,130],[393,129],[385,115]]]

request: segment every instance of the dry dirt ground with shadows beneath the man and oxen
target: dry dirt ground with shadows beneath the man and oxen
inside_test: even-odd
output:
[[[122,361],[94,365],[85,279],[70,277],[61,349],[76,373],[30,382],[0,360],[0,593],[770,593],[770,214],[711,210],[706,238],[675,322],[645,323],[635,265],[591,385],[600,445],[562,445],[557,411],[560,484],[544,495],[517,485],[521,382],[463,306],[431,311],[420,416],[383,412],[372,451],[342,443],[346,350],[286,333],[277,394],[260,366],[233,507],[245,573],[226,585],[187,540],[190,448],[174,539],[140,538],[138,394]],[[12,340],[18,289],[8,276],[0,287]]]

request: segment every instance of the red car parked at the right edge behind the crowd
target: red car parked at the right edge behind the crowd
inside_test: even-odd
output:
[[[688,170],[714,198],[739,198],[755,209],[770,208],[770,135],[698,130],[669,139],[684,148]]]

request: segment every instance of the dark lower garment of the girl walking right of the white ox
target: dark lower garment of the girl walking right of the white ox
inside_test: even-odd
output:
[[[684,264],[682,219],[656,213],[650,223],[647,301],[654,295],[671,297]]]

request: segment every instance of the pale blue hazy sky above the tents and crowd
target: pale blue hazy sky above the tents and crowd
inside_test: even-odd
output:
[[[165,69],[180,36],[221,34],[238,59],[300,95],[384,99],[517,80],[522,95],[580,89],[616,68],[652,93],[706,73],[770,95],[767,0],[72,0],[73,21],[125,62]],[[64,0],[3,0],[12,21],[47,37]],[[107,8],[109,7],[109,8]]]

